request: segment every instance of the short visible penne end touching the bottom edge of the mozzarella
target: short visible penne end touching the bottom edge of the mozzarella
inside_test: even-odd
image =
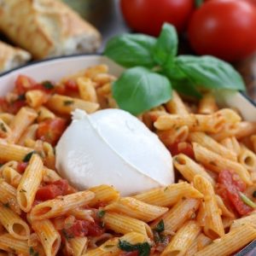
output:
[[[90,201],[89,206],[95,207],[100,203],[109,204],[119,199],[119,191],[109,185],[100,185],[89,189],[95,194],[95,197]]]

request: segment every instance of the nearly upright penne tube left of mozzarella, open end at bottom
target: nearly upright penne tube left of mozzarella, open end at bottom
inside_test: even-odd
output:
[[[32,154],[17,188],[17,201],[22,211],[30,212],[39,185],[43,179],[43,172],[44,166],[40,156]]]

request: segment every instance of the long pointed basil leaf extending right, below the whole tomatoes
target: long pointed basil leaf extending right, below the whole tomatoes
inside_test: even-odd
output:
[[[241,75],[234,67],[215,57],[179,55],[175,64],[197,86],[207,89],[245,90]]]

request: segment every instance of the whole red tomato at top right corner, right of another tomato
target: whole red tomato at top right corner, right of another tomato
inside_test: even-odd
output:
[[[256,7],[244,0],[208,1],[189,22],[189,42],[200,55],[238,61],[256,50]]]

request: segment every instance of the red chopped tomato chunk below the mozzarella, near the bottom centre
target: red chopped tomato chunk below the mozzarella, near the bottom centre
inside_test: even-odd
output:
[[[65,230],[68,236],[101,236],[104,232],[97,223],[87,220],[75,220],[73,226]]]

